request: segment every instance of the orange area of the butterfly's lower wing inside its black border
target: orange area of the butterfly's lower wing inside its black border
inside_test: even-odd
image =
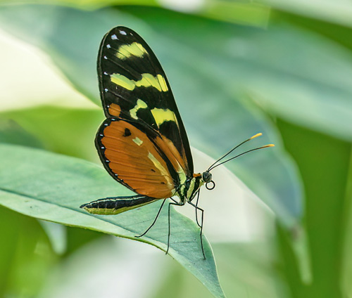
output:
[[[174,195],[168,167],[142,131],[128,122],[112,121],[103,129],[101,143],[108,167],[136,193],[159,199]]]

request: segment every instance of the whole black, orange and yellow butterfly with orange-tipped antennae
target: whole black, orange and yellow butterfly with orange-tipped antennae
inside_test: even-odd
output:
[[[113,179],[137,195],[106,197],[81,208],[92,214],[120,214],[163,200],[153,223],[142,234],[145,235],[158,219],[166,199],[170,198],[167,254],[170,206],[188,203],[196,209],[205,259],[203,209],[198,207],[200,188],[205,184],[206,188],[213,189],[215,183],[210,171],[224,163],[219,162],[239,145],[261,134],[234,147],[203,173],[195,174],[189,141],[170,84],[146,41],[127,27],[113,28],[101,41],[97,68],[106,119],[96,134],[96,150]],[[249,151],[270,146],[272,144]],[[201,212],[201,224],[198,212]]]

